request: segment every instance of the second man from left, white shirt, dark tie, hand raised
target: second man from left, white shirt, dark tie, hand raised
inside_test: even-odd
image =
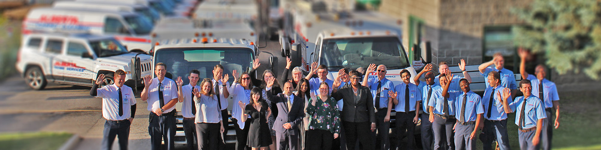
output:
[[[172,110],[177,103],[177,85],[165,77],[166,68],[162,62],[154,65],[156,77],[144,77],[144,90],[140,94],[142,101],[148,100],[151,149],[163,149],[161,140],[165,140],[166,149],[175,149],[175,111]]]

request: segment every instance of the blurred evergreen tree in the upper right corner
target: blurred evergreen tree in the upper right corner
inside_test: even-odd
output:
[[[545,64],[560,74],[583,71],[599,80],[601,71],[601,2],[534,0],[511,12],[525,21],[512,29],[514,43],[544,53]]]

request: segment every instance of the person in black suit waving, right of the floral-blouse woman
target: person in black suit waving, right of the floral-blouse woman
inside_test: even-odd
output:
[[[376,113],[370,89],[359,83],[361,73],[356,70],[350,71],[350,86],[337,89],[340,79],[335,80],[332,97],[335,100],[343,99],[344,102],[341,118],[346,133],[346,148],[355,149],[355,142],[349,141],[359,138],[361,149],[373,149],[371,132],[376,129]]]

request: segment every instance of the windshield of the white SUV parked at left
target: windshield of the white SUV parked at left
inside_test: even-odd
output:
[[[127,49],[125,49],[121,43],[112,38],[99,41],[90,41],[90,46],[92,49],[94,49],[94,53],[96,53],[99,58],[128,53]]]

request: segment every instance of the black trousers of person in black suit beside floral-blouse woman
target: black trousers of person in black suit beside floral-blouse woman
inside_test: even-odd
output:
[[[346,122],[344,121],[344,134],[346,134],[346,149],[355,149],[357,139],[361,149],[373,149],[373,135],[371,122]]]

